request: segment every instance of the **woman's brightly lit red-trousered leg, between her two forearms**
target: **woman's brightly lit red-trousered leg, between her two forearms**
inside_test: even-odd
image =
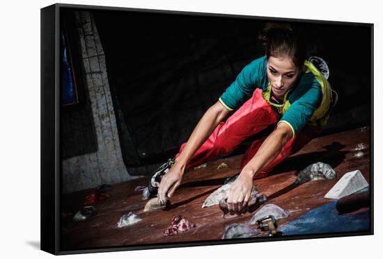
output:
[[[262,90],[254,91],[251,99],[246,101],[226,122],[221,122],[202,146],[196,151],[187,164],[187,169],[196,167],[230,153],[241,142],[267,126],[279,121],[279,114],[272,109],[262,97]],[[182,144],[180,152],[184,149]],[[180,152],[175,156],[179,156]]]

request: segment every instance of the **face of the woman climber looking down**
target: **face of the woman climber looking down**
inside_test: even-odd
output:
[[[273,94],[283,99],[286,92],[294,85],[300,69],[288,57],[269,56],[267,60],[267,78]]]

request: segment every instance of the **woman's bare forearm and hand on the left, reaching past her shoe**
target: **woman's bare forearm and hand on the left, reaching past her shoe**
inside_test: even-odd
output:
[[[165,203],[167,197],[171,197],[175,189],[180,185],[187,162],[194,153],[201,147],[203,142],[208,139],[210,134],[227,115],[229,111],[219,102],[214,103],[203,115],[196,128],[190,135],[189,140],[180,156],[175,158],[173,167],[167,172],[159,183],[158,199],[160,203]],[[167,194],[167,197],[166,197]]]

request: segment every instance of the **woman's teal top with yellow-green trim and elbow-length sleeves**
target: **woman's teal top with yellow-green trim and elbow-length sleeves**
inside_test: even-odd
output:
[[[252,96],[256,88],[262,90],[263,99],[279,112],[279,122],[286,122],[292,128],[293,135],[301,131],[306,124],[327,124],[331,107],[331,86],[311,62],[304,61],[302,72],[295,85],[286,92],[283,103],[276,103],[271,99],[266,56],[257,58],[244,67],[219,101],[228,110],[236,110]]]

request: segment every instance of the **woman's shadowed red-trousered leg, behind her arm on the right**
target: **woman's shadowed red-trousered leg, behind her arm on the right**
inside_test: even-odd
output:
[[[320,132],[322,131],[322,127],[315,127],[315,126],[306,126],[302,131],[297,133],[295,137],[293,137],[291,140],[289,140],[285,146],[282,148],[281,153],[279,153],[274,160],[265,167],[262,172],[256,175],[256,179],[266,177],[269,172],[276,167],[276,165],[279,165],[283,160],[286,160],[289,156],[292,156],[292,154],[297,153],[297,151],[301,150],[308,142],[310,142],[313,137],[316,137]],[[241,169],[247,165],[247,163],[253,158],[253,156],[256,155],[258,149],[262,145],[262,140],[256,140],[251,144],[249,149],[247,149],[246,153],[244,153],[244,156],[242,158],[241,162]]]

